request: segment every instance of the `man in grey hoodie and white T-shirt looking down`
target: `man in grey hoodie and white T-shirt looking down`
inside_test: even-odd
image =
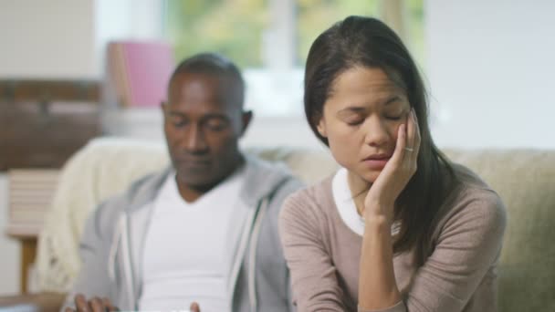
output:
[[[173,166],[89,218],[67,310],[291,308],[277,222],[301,185],[239,151],[252,118],[244,90],[224,57],[201,54],[175,69],[162,105]]]

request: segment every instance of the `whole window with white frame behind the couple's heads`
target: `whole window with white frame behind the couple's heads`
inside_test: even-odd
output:
[[[257,115],[301,114],[303,68],[316,36],[345,16],[380,16],[392,1],[166,0],[164,36],[178,60],[203,51],[233,59],[246,79],[246,106]],[[423,59],[423,0],[394,2],[406,5],[409,46]]]

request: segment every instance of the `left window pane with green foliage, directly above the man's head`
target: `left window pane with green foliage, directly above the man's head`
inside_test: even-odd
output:
[[[266,1],[168,0],[165,12],[165,36],[173,43],[176,59],[216,51],[241,68],[263,66]]]

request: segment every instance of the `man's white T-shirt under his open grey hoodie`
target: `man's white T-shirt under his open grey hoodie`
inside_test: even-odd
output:
[[[187,203],[178,191],[175,174],[169,175],[154,200],[146,234],[141,310],[188,310],[192,302],[198,302],[203,312],[230,310],[229,250],[239,239],[230,220],[244,180],[242,168],[194,203]],[[234,237],[228,237],[230,233]]]

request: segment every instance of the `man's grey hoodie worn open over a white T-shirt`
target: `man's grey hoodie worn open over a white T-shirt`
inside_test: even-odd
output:
[[[278,213],[288,194],[302,183],[285,166],[253,156],[246,156],[246,161],[240,200],[247,212],[238,213],[246,218],[235,220],[245,225],[229,265],[232,310],[293,311],[288,269],[278,237]],[[134,182],[127,192],[102,203],[89,216],[79,246],[83,265],[62,310],[73,307],[73,298],[79,293],[109,297],[121,310],[138,310],[142,249],[152,202],[172,171],[167,168]],[[169,237],[168,248],[178,247],[182,240]]]

